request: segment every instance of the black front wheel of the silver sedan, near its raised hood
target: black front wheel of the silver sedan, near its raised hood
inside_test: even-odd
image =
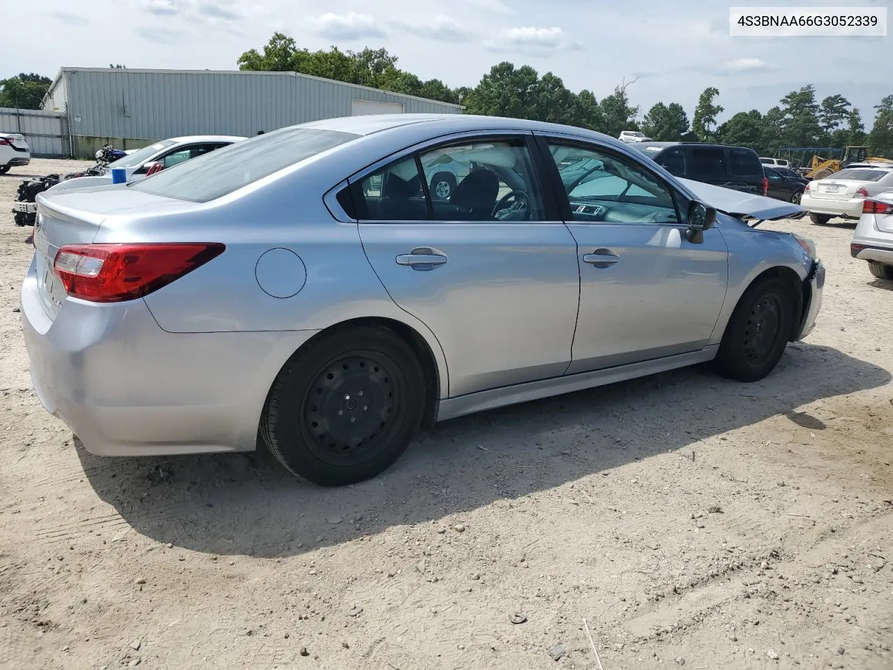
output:
[[[794,325],[794,300],[778,277],[755,281],[741,297],[722,334],[714,364],[722,375],[759,381],[778,364]]]

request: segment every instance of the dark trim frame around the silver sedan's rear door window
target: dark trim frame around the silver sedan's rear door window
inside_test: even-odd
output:
[[[384,158],[381,158],[374,163],[369,163],[365,167],[360,170],[355,171],[353,174],[346,177],[346,179],[341,180],[334,187],[330,188],[325,195],[322,197],[323,202],[328,207],[330,213],[335,217],[336,221],[339,222],[351,222],[358,223],[363,225],[370,225],[376,223],[449,223],[445,221],[435,221],[430,220],[421,220],[421,221],[402,221],[402,222],[382,222],[370,219],[360,219],[360,218],[352,218],[349,214],[347,214],[343,207],[338,204],[338,192],[344,188],[350,189],[351,198],[354,201],[355,214],[356,212],[356,202],[355,202],[355,192],[353,188],[358,186],[366,177],[368,177],[373,172],[378,172],[380,169],[384,167],[388,167],[388,165],[392,165],[394,163],[399,163],[400,161],[405,160],[407,157],[411,155],[420,156],[421,154],[430,151],[432,149],[436,149],[438,147],[445,147],[449,145],[459,144],[463,141],[474,141],[474,142],[484,142],[488,139],[493,141],[505,141],[506,138],[514,138],[522,141],[524,148],[528,152],[528,156],[530,158],[530,163],[532,167],[531,176],[536,183],[536,186],[539,188],[540,196],[542,197],[542,205],[543,205],[543,216],[544,218],[538,221],[492,221],[492,222],[481,222],[481,223],[563,223],[563,218],[560,212],[560,208],[558,206],[558,201],[555,199],[555,194],[552,193],[551,188],[549,187],[549,180],[547,172],[544,169],[544,165],[542,163],[542,157],[538,154],[538,147],[536,146],[536,141],[534,134],[531,130],[522,130],[522,129],[497,129],[497,130],[465,130],[461,132],[453,132],[447,135],[440,135],[436,138],[428,138],[421,142],[417,142],[409,147],[404,147],[402,149],[397,149],[396,151],[388,154]],[[416,163],[418,165],[418,162]],[[423,171],[421,172],[424,173]],[[427,190],[427,185],[426,190]],[[426,197],[426,201],[429,206],[432,207],[430,194]],[[463,223],[475,223],[475,222],[463,222]]]

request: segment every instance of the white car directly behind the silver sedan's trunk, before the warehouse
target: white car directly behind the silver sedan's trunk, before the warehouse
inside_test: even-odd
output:
[[[233,142],[238,142],[240,137],[231,135],[193,135],[185,138],[162,139],[148,147],[143,147],[132,154],[119,158],[110,163],[108,169],[100,175],[92,177],[75,177],[71,180],[60,181],[53,187],[47,188],[47,194],[55,194],[72,188],[88,188],[91,186],[106,186],[112,182],[113,168],[123,168],[127,181],[138,181],[146,177],[148,172],[164,170],[165,168],[183,163],[190,158],[207,154],[214,149],[226,147]]]

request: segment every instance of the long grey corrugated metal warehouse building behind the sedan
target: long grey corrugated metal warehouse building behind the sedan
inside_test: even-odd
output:
[[[249,137],[335,116],[462,112],[460,105],[296,72],[113,68],[63,68],[43,109],[60,117],[64,153],[81,157],[106,141],[129,149],[181,135]]]

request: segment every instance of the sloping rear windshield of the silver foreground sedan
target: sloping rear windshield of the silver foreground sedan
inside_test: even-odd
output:
[[[129,188],[205,203],[358,137],[315,128],[275,130],[156,172]]]

